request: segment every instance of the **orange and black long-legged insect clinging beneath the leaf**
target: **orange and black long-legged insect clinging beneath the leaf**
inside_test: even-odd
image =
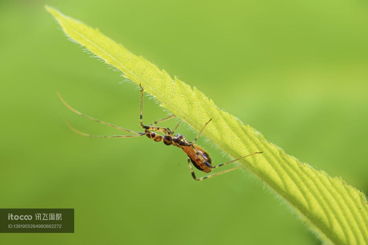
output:
[[[218,172],[218,173],[210,174],[210,175],[207,175],[207,176],[204,176],[204,177],[197,178],[195,176],[195,173],[193,171],[193,168],[191,166],[191,163],[198,170],[201,170],[204,173],[210,173],[213,168],[225,166],[225,165],[227,165],[229,163],[233,163],[234,161],[243,159],[245,157],[252,156],[252,155],[255,155],[255,154],[258,154],[258,153],[263,153],[263,152],[254,152],[254,153],[251,153],[249,155],[242,156],[242,157],[239,157],[237,159],[228,161],[226,163],[222,163],[222,164],[213,166],[212,165],[212,159],[209,156],[209,154],[206,152],[206,150],[203,149],[201,146],[195,144],[195,142],[197,141],[199,135],[201,135],[202,131],[205,129],[205,127],[210,123],[210,121],[212,119],[210,119],[207,123],[205,123],[205,125],[198,132],[197,136],[195,137],[194,141],[192,141],[192,142],[191,141],[188,141],[185,138],[185,135],[174,134],[174,131],[178,128],[178,126],[181,124],[182,121],[180,121],[176,125],[176,127],[174,128],[173,131],[171,131],[170,128],[164,128],[164,127],[157,127],[156,126],[156,124],[158,124],[160,122],[163,122],[163,121],[166,121],[166,120],[168,120],[170,118],[173,118],[173,117],[175,117],[175,115],[171,115],[169,117],[166,117],[166,118],[160,119],[158,121],[155,121],[151,125],[144,125],[143,124],[143,115],[142,115],[143,114],[143,91],[144,91],[144,89],[142,88],[142,86],[140,84],[139,84],[139,86],[141,87],[140,121],[141,121],[142,128],[144,128],[144,132],[137,132],[137,131],[132,131],[132,130],[129,130],[129,129],[121,128],[121,127],[118,127],[118,126],[113,125],[113,124],[110,124],[110,123],[105,123],[105,122],[100,121],[98,119],[95,119],[93,117],[86,116],[86,115],[80,113],[79,111],[75,110],[74,108],[72,108],[68,103],[65,102],[65,100],[63,99],[63,97],[61,97],[61,95],[58,93],[58,95],[60,97],[60,100],[64,103],[64,105],[66,107],[68,107],[68,109],[70,109],[74,113],[77,113],[78,115],[80,115],[82,117],[91,119],[91,120],[96,121],[98,123],[102,123],[102,124],[105,124],[105,125],[108,125],[110,127],[117,128],[117,129],[120,129],[120,130],[123,130],[123,131],[131,132],[134,135],[90,135],[90,134],[86,134],[84,132],[81,132],[81,131],[75,129],[74,127],[71,126],[71,124],[68,121],[66,121],[67,125],[74,132],[77,132],[78,134],[81,134],[81,135],[84,135],[84,136],[88,136],[88,137],[97,137],[97,138],[128,138],[128,137],[138,137],[138,136],[146,135],[148,138],[153,139],[156,142],[162,141],[165,145],[168,145],[168,146],[169,145],[173,145],[173,146],[176,146],[178,148],[181,148],[185,152],[185,154],[187,154],[187,160],[188,160],[188,164],[189,164],[189,167],[190,167],[191,175],[192,175],[193,179],[194,180],[197,180],[197,181],[205,180],[207,178],[211,178],[211,177],[214,177],[216,175],[228,173],[230,171],[233,171],[233,170],[236,170],[236,169],[240,168],[240,166],[239,167],[230,168],[228,170],[224,170],[224,171],[221,171],[221,172]],[[156,134],[155,132],[152,132],[152,131],[162,132],[165,135],[162,136],[162,135]]]

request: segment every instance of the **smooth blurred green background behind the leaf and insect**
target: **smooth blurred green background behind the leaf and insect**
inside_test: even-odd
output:
[[[368,188],[367,2],[2,0],[0,207],[75,208],[75,233],[0,234],[1,244],[320,244],[250,174],[195,182],[177,148],[71,132],[64,118],[120,133],[68,111],[56,91],[141,130],[139,91],[69,42],[44,4],[197,86],[290,155]],[[166,116],[147,97],[144,114]]]

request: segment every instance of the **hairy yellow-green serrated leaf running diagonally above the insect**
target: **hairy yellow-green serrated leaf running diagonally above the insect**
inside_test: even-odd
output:
[[[171,78],[141,56],[73,18],[47,7],[63,31],[75,42],[124,73],[124,77],[142,84],[162,106],[196,130],[210,119],[203,135],[233,158],[263,151],[240,160],[245,168],[285,199],[325,242],[367,244],[368,205],[365,195],[332,178],[267,141],[263,135],[238,118],[220,110],[213,100],[197,88]],[[346,163],[348,164],[348,163]]]

